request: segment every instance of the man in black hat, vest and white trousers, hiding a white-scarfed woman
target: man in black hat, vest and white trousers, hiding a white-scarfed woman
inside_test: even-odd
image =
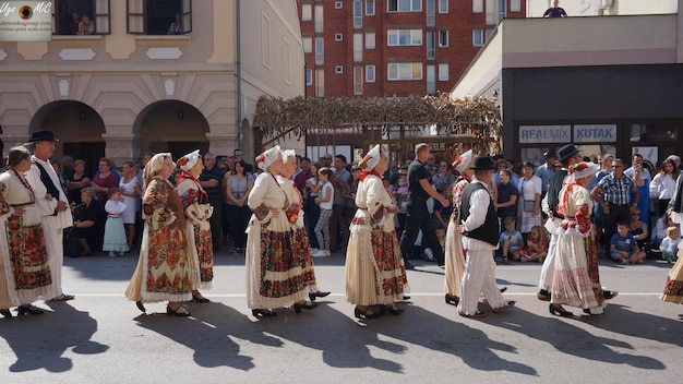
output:
[[[490,157],[477,156],[470,169],[475,170],[475,176],[463,191],[457,227],[458,232],[464,235],[463,248],[467,250],[458,314],[483,317],[486,314],[478,309],[482,292],[494,313],[514,307],[515,302],[505,300],[495,284],[492,252],[498,248],[501,231],[489,185],[496,167]]]

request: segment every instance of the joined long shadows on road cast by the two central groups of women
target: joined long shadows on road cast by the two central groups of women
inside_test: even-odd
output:
[[[400,362],[402,356],[409,348],[419,346],[451,355],[476,370],[537,375],[534,368],[501,359],[494,352],[515,352],[516,347],[491,340],[480,329],[420,307],[405,303],[398,305],[406,309],[404,314],[385,314],[381,319],[364,322],[356,321],[350,317],[350,313],[345,314],[324,304],[298,315],[289,313],[289,310],[280,310],[277,319],[260,321],[259,326],[268,334],[320,350],[323,361],[334,368],[372,368],[407,374]],[[376,349],[390,352],[394,358],[378,358],[376,355],[380,353]],[[454,363],[444,359],[444,364],[447,365],[444,368],[451,368]]]

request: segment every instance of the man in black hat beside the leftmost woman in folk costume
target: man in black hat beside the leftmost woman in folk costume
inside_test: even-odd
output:
[[[59,177],[50,164],[57,141],[51,131],[33,133],[29,141],[29,144],[34,146],[34,155],[31,157],[33,165],[31,170],[26,172],[26,181],[34,191],[36,205],[45,215],[43,217],[45,247],[52,274],[52,285],[57,290],[57,296],[51,300],[71,300],[73,296],[62,291],[61,283],[62,263],[64,261],[63,231],[64,228],[73,226],[73,217],[71,209],[69,209],[67,195],[60,187]]]

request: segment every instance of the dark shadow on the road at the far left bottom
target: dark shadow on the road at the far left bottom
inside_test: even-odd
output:
[[[73,361],[62,356],[68,349],[80,355],[103,353],[109,349],[91,340],[97,332],[97,321],[88,312],[79,311],[67,302],[50,302],[49,305],[55,312],[0,320],[0,337],[16,356],[10,372],[40,369],[65,372],[73,368]]]

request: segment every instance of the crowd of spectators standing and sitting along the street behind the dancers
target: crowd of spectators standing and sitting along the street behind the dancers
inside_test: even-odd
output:
[[[100,228],[104,228],[106,220],[104,204],[107,191],[112,187],[123,188],[127,205],[132,209],[136,208],[136,219],[133,223],[129,219],[125,225],[129,244],[133,245],[134,239],[139,241],[140,228],[142,228],[140,169],[144,167],[145,159],[148,159],[151,155],[147,154],[137,163],[127,163],[123,166],[125,173],[123,180],[113,163],[107,158],[99,160],[98,170],[92,176],[86,171],[83,160],[74,160],[71,156],[64,156],[61,166],[57,161],[53,163],[56,167],[59,167],[58,173],[62,178],[62,187],[69,196],[76,220],[87,223],[88,227],[93,227],[86,231],[88,240],[83,243],[83,254],[89,254],[101,247]],[[221,247],[228,247],[226,250],[229,252],[243,253],[244,229],[251,216],[245,199],[256,176],[254,167],[244,160],[244,152],[240,148],[235,149],[232,156],[215,156],[206,153],[203,159],[205,169],[200,176],[200,182],[214,206],[211,220],[214,251],[217,252]],[[542,200],[552,175],[555,170],[562,169],[563,165],[552,153],[544,154],[544,163],[540,166],[531,161],[505,159],[502,156],[494,156],[494,160],[498,171],[494,173],[491,188],[502,232],[496,259],[503,263],[511,260],[542,262],[549,236],[542,226],[547,217],[542,209]],[[390,161],[388,170],[383,175],[384,183],[399,208],[398,214],[395,215],[395,228],[398,236],[403,233],[406,224],[407,173],[410,161],[412,161],[411,158],[406,159],[404,164]],[[680,230],[673,232],[671,227],[675,225],[668,218],[670,212],[668,206],[676,179],[681,173],[680,157],[669,156],[657,167],[649,161],[644,161],[639,154],[633,156],[631,164],[611,154],[599,155],[592,161],[600,167],[588,185],[595,203],[594,224],[601,237],[600,252],[622,262],[623,257],[615,256],[612,249],[614,242],[620,241],[616,239],[618,229],[619,225],[623,224],[630,228],[628,235],[633,237],[633,241],[638,244],[644,255],[658,257],[662,240],[671,237],[672,233],[673,237],[680,237]],[[431,176],[432,188],[451,201],[453,185],[458,175],[451,165],[450,158],[439,158],[438,153],[432,153],[424,167]],[[332,204],[321,199],[324,184],[320,178],[321,169],[328,169],[333,176],[329,178],[334,188],[329,196]],[[325,217],[329,221],[327,230],[324,231],[325,243],[328,242],[325,244],[328,248],[325,251],[346,250],[350,219],[356,212],[355,197],[359,175],[360,169],[357,164],[349,163],[344,155],[325,154],[316,161],[308,157],[298,157],[298,168],[292,180],[303,196],[304,223],[314,252],[320,245],[315,227],[321,217],[321,204],[325,207],[332,206],[329,217]],[[621,190],[618,190],[618,187]],[[87,196],[84,200],[83,190],[86,188]],[[89,197],[89,193],[95,193],[95,196]],[[444,207],[430,199],[428,208],[438,233],[445,233],[453,207]],[[96,215],[95,212],[99,214]],[[89,221],[96,223],[91,225]],[[76,230],[76,233],[82,232],[83,230]],[[519,237],[513,233],[519,233]],[[511,238],[514,240],[512,245],[510,245]],[[518,239],[523,241],[519,242]],[[443,236],[440,240],[443,242]],[[669,245],[671,241],[667,241],[667,244]],[[418,236],[409,257],[430,260],[431,254],[433,254],[432,250],[422,247],[421,236]],[[667,256],[662,253],[661,257]],[[669,257],[675,257],[675,253],[669,254]],[[631,260],[635,263],[640,259]]]

